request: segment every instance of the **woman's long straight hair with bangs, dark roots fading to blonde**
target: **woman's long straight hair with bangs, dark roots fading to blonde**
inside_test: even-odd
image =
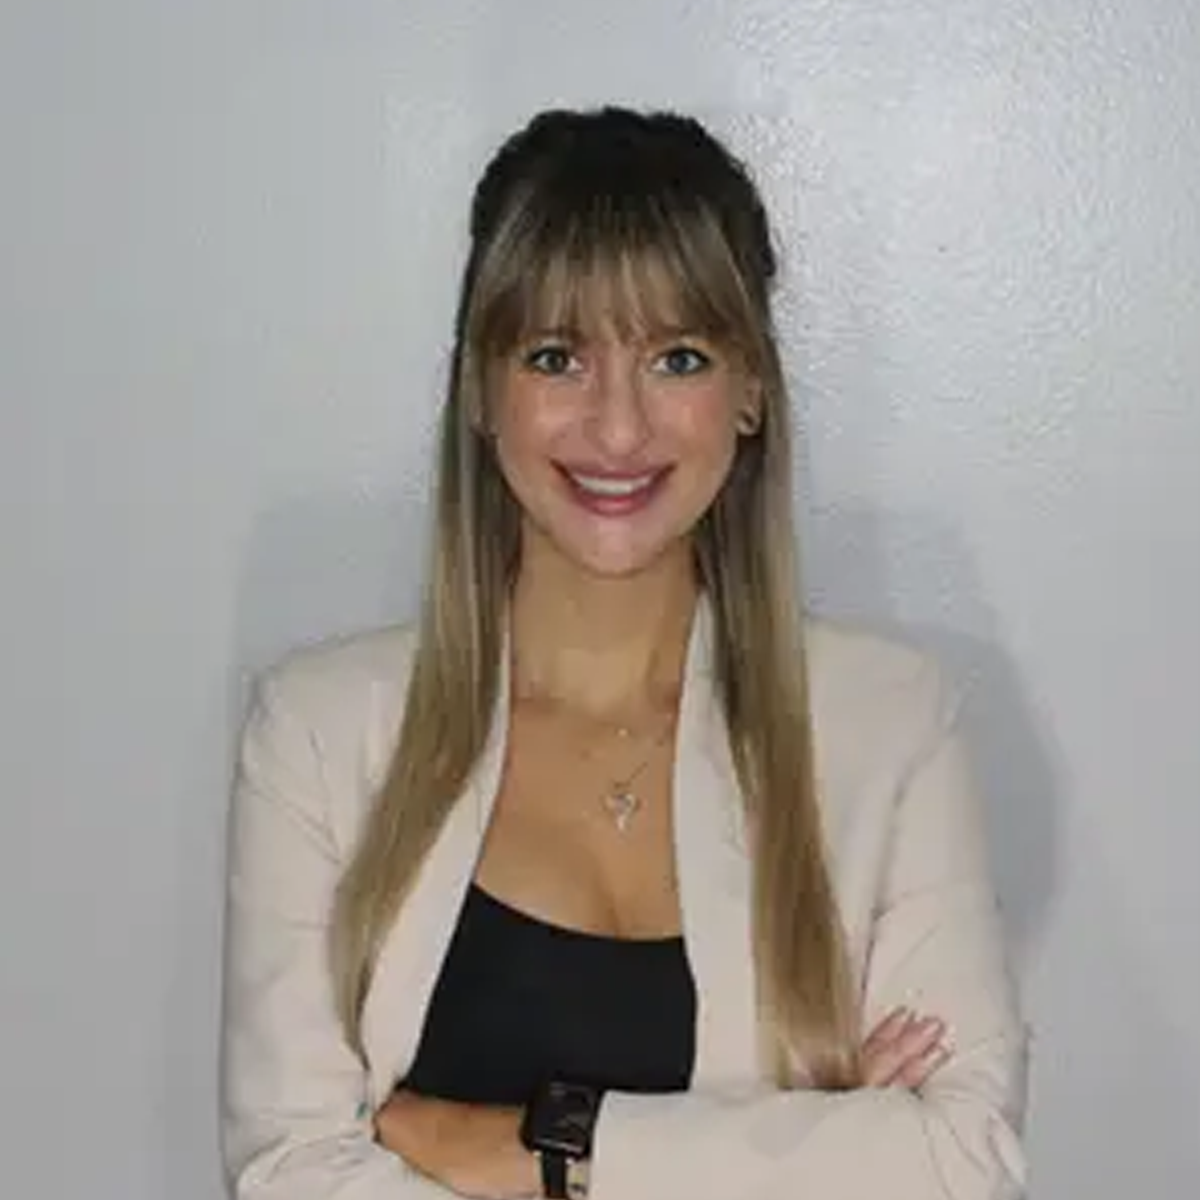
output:
[[[490,365],[535,328],[578,326],[598,287],[631,323],[670,281],[670,317],[721,340],[761,388],[758,430],[695,532],[714,679],[754,866],[762,1032],[781,1086],[857,1081],[857,1019],[826,863],[794,560],[787,395],[770,317],[775,256],[744,168],[698,122],[551,112],[509,139],[472,208],[442,416],[424,608],[396,750],[338,889],[338,1010],[361,1051],[390,926],[481,754],[498,701],[520,512],[486,436]]]

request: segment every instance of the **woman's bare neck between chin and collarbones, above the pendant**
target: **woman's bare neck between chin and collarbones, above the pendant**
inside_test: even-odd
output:
[[[630,726],[672,712],[697,599],[688,547],[625,578],[527,548],[512,593],[516,698]]]

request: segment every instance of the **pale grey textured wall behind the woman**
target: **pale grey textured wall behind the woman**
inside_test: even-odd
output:
[[[5,1194],[216,1200],[240,672],[412,604],[466,188],[607,98],[778,212],[815,601],[976,679],[1036,1195],[1193,1194],[1198,60],[1190,0],[6,4]]]

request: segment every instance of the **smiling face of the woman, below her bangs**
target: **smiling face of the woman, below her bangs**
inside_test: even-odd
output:
[[[738,356],[688,330],[541,330],[496,365],[490,424],[526,553],[636,575],[686,552],[757,394]]]

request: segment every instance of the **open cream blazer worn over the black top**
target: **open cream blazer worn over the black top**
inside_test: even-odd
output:
[[[594,1200],[1009,1200],[1024,1194],[1026,1030],[1006,964],[956,706],[917,653],[809,629],[817,776],[866,1027],[942,1016],[954,1054],[920,1094],[780,1091],[758,1058],[750,864],[714,703],[712,617],[689,642],[674,761],[683,930],[698,1014],[691,1088],[605,1097]],[[434,1200],[373,1141],[412,1062],[497,793],[508,679],[485,752],[389,936],[367,1064],[334,1013],[334,888],[400,724],[410,630],[290,656],[260,682],[229,842],[222,1130],[238,1200]],[[505,655],[506,658],[506,655]],[[508,670],[505,665],[505,672]]]

